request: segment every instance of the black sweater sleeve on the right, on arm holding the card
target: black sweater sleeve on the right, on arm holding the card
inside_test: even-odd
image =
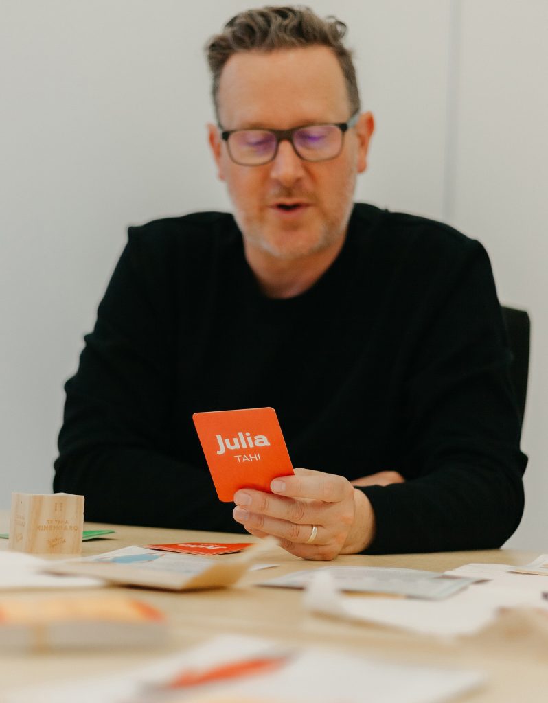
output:
[[[488,256],[477,242],[440,267],[416,311],[404,384],[404,484],[361,490],[376,536],[367,553],[497,548],[523,513],[520,420]]]

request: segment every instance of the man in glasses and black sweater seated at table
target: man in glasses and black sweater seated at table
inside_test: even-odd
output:
[[[264,8],[210,41],[234,218],[130,228],[66,387],[54,486],[84,494],[87,519],[239,527],[309,559],[492,548],[516,529],[525,457],[487,255],[352,205],[374,122],[344,32]],[[261,406],[305,468],[233,510],[191,415]]]

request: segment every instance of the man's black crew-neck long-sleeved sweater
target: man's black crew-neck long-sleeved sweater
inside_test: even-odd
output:
[[[307,292],[262,295],[229,214],[129,229],[66,385],[54,489],[87,520],[240,531],[196,411],[272,406],[294,466],[370,486],[367,552],[500,546],[523,512],[520,422],[488,256],[445,225],[356,205]]]

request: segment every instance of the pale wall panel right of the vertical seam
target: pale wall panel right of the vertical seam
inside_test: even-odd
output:
[[[447,219],[490,252],[499,297],[532,318],[525,515],[509,545],[548,547],[548,3],[466,0]]]

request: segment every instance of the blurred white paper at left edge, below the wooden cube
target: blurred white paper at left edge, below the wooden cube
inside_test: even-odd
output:
[[[52,563],[24,552],[0,551],[0,590],[106,586],[106,581],[90,579],[88,576],[53,576],[42,573]]]

